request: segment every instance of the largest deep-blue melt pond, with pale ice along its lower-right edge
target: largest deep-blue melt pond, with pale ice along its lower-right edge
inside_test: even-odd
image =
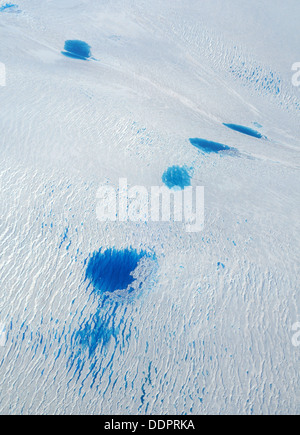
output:
[[[145,251],[138,253],[135,249],[100,250],[90,258],[86,278],[101,293],[126,290],[134,282],[132,273],[143,257],[149,257],[149,254]]]

